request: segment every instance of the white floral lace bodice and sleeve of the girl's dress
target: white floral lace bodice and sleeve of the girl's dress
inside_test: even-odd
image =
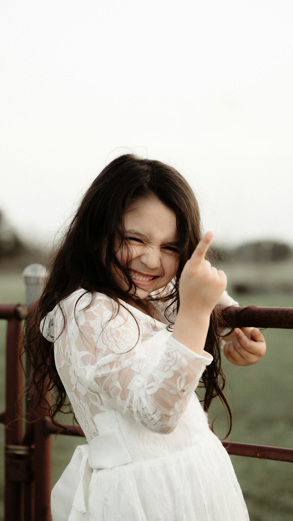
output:
[[[121,305],[112,318],[113,300],[97,293],[87,308],[91,295],[83,293],[62,303],[62,334],[58,307],[47,315],[44,334],[56,338],[56,367],[88,441],[99,435],[95,416],[112,409],[151,430],[171,432],[211,355],[193,353],[173,339],[166,324],[132,308],[139,334],[128,308]]]

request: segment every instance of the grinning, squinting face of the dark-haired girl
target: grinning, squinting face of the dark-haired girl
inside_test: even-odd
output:
[[[116,255],[129,269],[137,286],[136,295],[145,299],[152,291],[166,286],[176,274],[179,262],[176,216],[159,200],[142,200],[125,213],[124,227],[130,260],[127,263],[126,248],[122,247]],[[128,282],[119,270],[117,282],[121,288],[128,288]]]

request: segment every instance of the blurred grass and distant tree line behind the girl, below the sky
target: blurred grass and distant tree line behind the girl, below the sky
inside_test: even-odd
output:
[[[0,231],[0,301],[25,302],[23,267],[46,264],[47,245],[28,245],[2,217]],[[4,230],[4,231],[2,231]],[[8,247],[9,245],[9,247]],[[45,253],[47,252],[47,253]],[[213,246],[212,262],[225,269],[228,291],[241,305],[292,307],[293,262],[289,245],[257,241],[233,247]],[[261,260],[259,260],[258,255]],[[0,321],[0,410],[4,410],[5,322]],[[291,367],[292,330],[264,331],[267,353],[255,365],[236,367],[223,359],[226,395],[233,410],[230,441],[293,447]],[[214,401],[209,412],[219,437],[226,432],[221,404]],[[70,423],[70,417],[60,415]],[[53,443],[53,483],[70,461],[78,438],[57,436]],[[0,467],[3,469],[4,427],[0,429]],[[251,521],[289,521],[293,514],[292,464],[230,456],[245,496]],[[3,520],[3,470],[0,474],[0,519]]]

